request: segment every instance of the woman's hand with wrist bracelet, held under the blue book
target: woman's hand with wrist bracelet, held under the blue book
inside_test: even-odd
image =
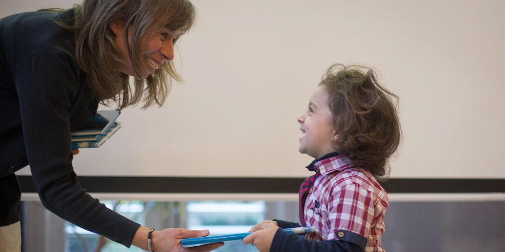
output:
[[[147,250],[148,228],[140,226],[133,237],[132,245]],[[224,245],[224,242],[210,243],[194,247],[182,247],[181,239],[203,237],[209,235],[209,230],[189,230],[184,228],[166,228],[153,231],[151,248],[156,252],[208,252]]]

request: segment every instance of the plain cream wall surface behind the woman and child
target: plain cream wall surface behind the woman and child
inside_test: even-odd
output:
[[[70,3],[4,0],[0,17]],[[391,177],[505,178],[505,2],[193,4],[175,59],[187,84],[162,108],[125,109],[113,138],[75,156],[78,174],[307,176],[296,117],[342,62],[379,69],[400,96]]]

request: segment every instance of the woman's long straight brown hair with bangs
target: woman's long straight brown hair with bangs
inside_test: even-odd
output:
[[[194,6],[188,0],[84,0],[81,5],[74,5],[73,21],[55,20],[64,28],[75,30],[76,59],[87,73],[88,85],[99,101],[104,104],[115,101],[118,109],[141,100],[144,102],[142,108],[153,104],[162,106],[170,93],[172,79],[182,82],[181,77],[172,61],[167,60],[145,80],[135,79],[131,87],[129,76],[115,70],[117,62],[123,59],[114,42],[116,35],[109,27],[115,20],[125,24],[123,41],[138,75],[142,69],[149,68],[142,55],[141,42],[163,27],[173,31],[180,29],[180,35],[186,33],[194,24]],[[128,36],[131,36],[131,44]]]

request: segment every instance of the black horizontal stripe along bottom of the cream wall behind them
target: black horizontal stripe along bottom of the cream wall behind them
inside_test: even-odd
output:
[[[18,176],[23,193],[35,193],[31,176]],[[79,176],[88,193],[298,193],[304,178]],[[391,178],[388,193],[505,193],[505,179]]]

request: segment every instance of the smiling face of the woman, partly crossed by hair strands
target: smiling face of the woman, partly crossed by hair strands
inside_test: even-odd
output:
[[[174,58],[174,41],[179,36],[180,30],[171,31],[167,28],[162,28],[153,34],[153,36],[151,36],[148,40],[141,41],[140,46],[143,48],[142,55],[147,59],[150,68],[141,69],[140,76],[138,76],[133,69],[130,55],[128,54],[128,50],[126,49],[126,45],[123,41],[124,23],[120,21],[112,22],[110,27],[114,34],[116,34],[116,45],[123,53],[123,60],[120,62],[118,70],[124,74],[144,80],[147,76],[160,68],[165,60],[170,61]],[[131,34],[131,27],[128,33]],[[128,39],[128,42],[131,45],[131,35],[129,35]]]

